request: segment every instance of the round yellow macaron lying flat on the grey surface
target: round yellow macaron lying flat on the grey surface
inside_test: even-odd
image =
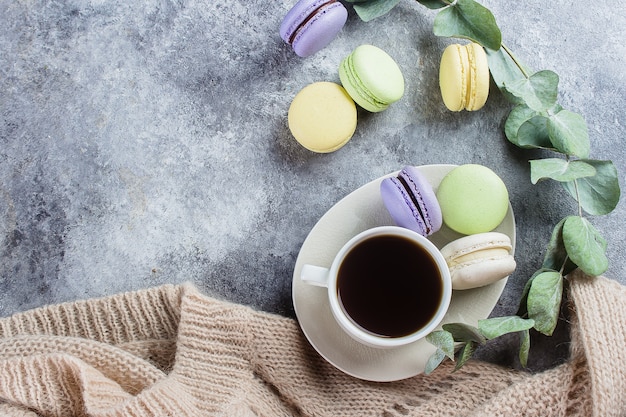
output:
[[[345,145],[356,130],[356,105],[342,86],[316,82],[294,97],[287,120],[296,140],[310,151],[328,153]]]

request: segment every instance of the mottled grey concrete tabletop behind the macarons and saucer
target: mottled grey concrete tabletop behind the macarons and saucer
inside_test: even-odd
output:
[[[492,90],[450,113],[437,71],[450,42],[435,13],[403,0],[370,23],[350,11],[339,37],[302,59],[278,27],[291,0],[0,0],[0,316],[44,304],[191,281],[204,292],[293,316],[292,269],[336,201],[404,164],[480,163],[506,182],[518,269],[494,314],[515,312],[556,222],[574,213],[558,184],[533,186],[502,133],[510,109]],[[584,115],[592,158],[626,172],[626,15],[615,2],[484,1],[504,41],[560,76],[561,104]],[[333,154],[287,129],[294,95],[338,81],[353,48],[390,53],[406,94],[359,113]],[[591,219],[609,242],[606,275],[626,284],[622,201]],[[564,316],[564,322],[566,317]],[[533,339],[531,369],[567,356],[566,326]],[[481,352],[516,366],[513,338]]]

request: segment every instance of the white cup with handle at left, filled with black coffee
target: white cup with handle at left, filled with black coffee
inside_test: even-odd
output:
[[[333,317],[355,340],[391,348],[435,330],[452,296],[450,271],[424,236],[397,226],[365,230],[330,268],[303,265],[300,278],[326,287]]]

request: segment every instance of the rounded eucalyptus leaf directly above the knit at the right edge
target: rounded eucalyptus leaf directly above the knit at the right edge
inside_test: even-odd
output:
[[[606,257],[606,240],[589,220],[569,216],[563,224],[563,244],[567,255],[589,275],[601,275],[609,266]]]

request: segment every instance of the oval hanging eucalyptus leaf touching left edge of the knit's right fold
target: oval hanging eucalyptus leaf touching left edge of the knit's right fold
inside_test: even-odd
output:
[[[528,291],[528,315],[535,329],[552,335],[556,327],[563,296],[563,276],[556,271],[541,272],[534,277]]]

